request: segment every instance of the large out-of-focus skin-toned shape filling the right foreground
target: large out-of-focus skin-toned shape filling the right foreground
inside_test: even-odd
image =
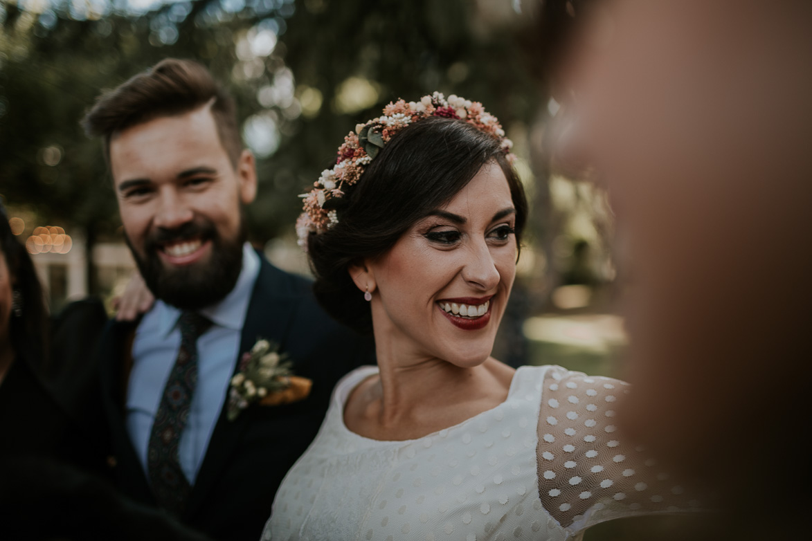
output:
[[[806,535],[812,3],[567,3],[596,39],[559,66],[557,150],[605,183],[624,243],[619,421],[736,539]]]

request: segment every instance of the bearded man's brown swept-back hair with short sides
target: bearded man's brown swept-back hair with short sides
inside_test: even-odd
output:
[[[210,104],[222,148],[236,167],[243,144],[234,101],[209,70],[192,60],[165,58],[113,90],[102,93],[82,119],[90,137],[103,137],[110,160],[110,138],[155,118],[185,114]]]

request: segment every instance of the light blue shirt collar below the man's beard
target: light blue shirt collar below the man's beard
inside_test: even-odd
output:
[[[259,268],[260,260],[257,252],[250,244],[245,243],[243,245],[243,268],[240,270],[240,277],[237,278],[234,289],[219,303],[202,308],[200,313],[220,327],[242,329],[253,286],[259,276]],[[180,310],[161,300],[156,301],[154,310],[158,311],[158,333],[166,337],[175,329]]]

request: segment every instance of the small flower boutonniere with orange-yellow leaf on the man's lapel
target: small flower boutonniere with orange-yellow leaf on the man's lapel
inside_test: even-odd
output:
[[[228,420],[233,421],[254,402],[279,406],[304,400],[313,381],[294,376],[287,354],[267,340],[258,340],[251,351],[240,358],[240,370],[231,377],[228,393]]]

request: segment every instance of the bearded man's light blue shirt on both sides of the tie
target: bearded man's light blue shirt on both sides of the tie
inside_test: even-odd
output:
[[[259,267],[259,256],[246,243],[243,268],[234,289],[219,303],[200,311],[213,324],[197,340],[197,389],[192,395],[188,421],[180,435],[178,449],[180,467],[192,484],[197,479],[197,471],[226,400]],[[157,301],[138,325],[132,344],[132,371],[127,383],[127,432],[148,475],[149,434],[163,388],[180,350],[179,316],[178,308]]]

